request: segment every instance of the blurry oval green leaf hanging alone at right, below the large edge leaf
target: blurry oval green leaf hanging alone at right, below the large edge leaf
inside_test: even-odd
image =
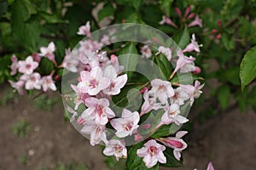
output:
[[[224,85],[218,88],[218,102],[223,110],[227,108],[230,102],[229,86]]]

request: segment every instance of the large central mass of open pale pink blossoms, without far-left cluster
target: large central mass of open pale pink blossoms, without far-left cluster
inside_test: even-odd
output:
[[[86,24],[79,28],[79,33],[90,36],[90,25]],[[69,65],[69,71],[78,71],[79,78],[77,84],[72,84],[75,99],[74,106],[68,106],[67,110],[73,114],[71,122],[75,122],[81,127],[80,132],[90,136],[90,144],[106,144],[103,154],[106,156],[115,156],[119,158],[127,157],[126,139],[133,139],[135,143],[143,140],[143,135],[139,133],[138,128],[150,129],[154,133],[162,125],[175,123],[181,125],[189,120],[181,115],[180,108],[186,102],[192,105],[194,99],[201,95],[203,85],[195,81],[194,85],[175,84],[177,88],[172,87],[170,81],[155,78],[148,82],[141,89],[143,94],[143,105],[140,111],[129,111],[123,109],[121,112],[115,112],[112,109],[112,97],[118,95],[121,89],[125,87],[128,77],[123,72],[123,66],[119,65],[119,58],[112,54],[107,56],[107,52],[100,52],[93,40],[84,40],[79,42],[80,46],[75,49],[72,56],[79,56],[76,64],[83,65],[82,70],[75,70],[77,65]],[[201,45],[195,41],[195,35],[192,36],[191,42],[183,50],[177,51],[177,57],[172,56],[172,48],[160,46],[155,54],[164,54],[170,62],[175,61],[176,67],[172,72],[172,77],[177,73],[194,72],[199,73],[201,70],[195,66],[195,58],[187,57],[184,53],[195,51],[200,52]],[[97,49],[100,49],[98,47]],[[153,55],[148,45],[141,48],[143,57],[150,59]],[[71,59],[73,60],[73,59]],[[84,105],[84,111],[78,111],[79,106]],[[140,124],[141,117],[149,114],[150,111],[163,111],[160,122],[152,127],[152,124]],[[166,156],[163,151],[166,146],[173,149],[173,155],[177,160],[181,158],[181,151],[187,147],[182,137],[186,131],[179,131],[174,137],[146,139],[143,148],[137,150],[137,156],[143,157],[146,167],[154,167],[159,161],[166,163]]]

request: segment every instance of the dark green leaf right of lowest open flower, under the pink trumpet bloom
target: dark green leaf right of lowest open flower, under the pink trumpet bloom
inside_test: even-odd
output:
[[[166,150],[164,150],[164,155],[166,156],[166,163],[160,164],[160,166],[162,167],[183,166],[183,158],[181,157],[181,161],[177,161],[177,159],[173,156],[173,152],[171,148],[166,147]]]

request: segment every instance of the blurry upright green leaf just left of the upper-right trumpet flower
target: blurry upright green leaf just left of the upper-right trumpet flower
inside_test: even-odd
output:
[[[178,31],[173,37],[173,40],[177,43],[179,48],[185,48],[190,41],[188,28],[185,27],[183,31]]]

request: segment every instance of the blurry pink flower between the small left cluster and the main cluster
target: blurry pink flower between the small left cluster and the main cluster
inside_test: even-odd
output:
[[[70,48],[66,49],[66,55],[64,57],[62,66],[67,69],[67,71],[71,71],[71,72],[77,72],[78,71],[78,65],[79,65],[79,60],[74,58],[71,54],[70,54]]]

